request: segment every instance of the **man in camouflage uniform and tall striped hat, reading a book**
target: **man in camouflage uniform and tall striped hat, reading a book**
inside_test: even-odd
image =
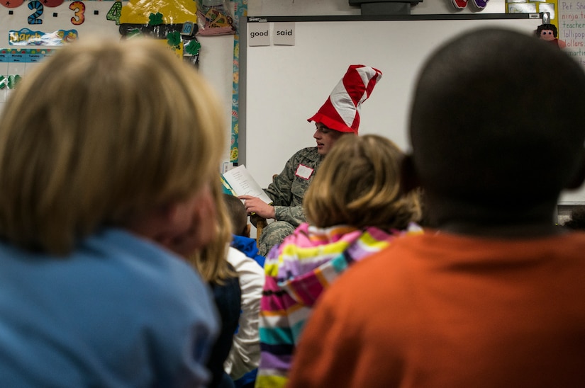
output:
[[[321,161],[333,144],[343,135],[357,135],[360,125],[360,105],[372,93],[381,72],[373,67],[351,65],[318,112],[307,121],[315,122],[313,138],[316,147],[303,148],[286,162],[284,169],[264,189],[272,205],[250,195],[245,200],[248,214],[255,213],[274,222],[264,227],[258,240],[260,255],[267,256],[272,246],[282,242],[294,229],[305,222],[303,197],[313,181]]]

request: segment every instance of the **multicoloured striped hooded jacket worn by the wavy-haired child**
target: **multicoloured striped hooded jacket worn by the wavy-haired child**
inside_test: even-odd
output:
[[[384,232],[299,225],[264,263],[266,282],[260,299],[260,367],[256,387],[284,387],[292,355],[319,295],[355,261],[381,251],[396,237],[420,234],[412,223],[406,231]]]

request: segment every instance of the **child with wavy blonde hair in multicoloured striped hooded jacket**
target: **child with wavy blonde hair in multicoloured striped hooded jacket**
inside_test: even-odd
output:
[[[417,193],[401,190],[403,153],[378,135],[345,136],[306,193],[308,223],[269,252],[260,302],[256,387],[282,387],[296,343],[321,293],[355,261],[422,231]]]

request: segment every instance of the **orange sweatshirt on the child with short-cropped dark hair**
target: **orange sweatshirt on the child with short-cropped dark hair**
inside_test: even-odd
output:
[[[397,239],[325,293],[288,387],[585,386],[585,234]]]

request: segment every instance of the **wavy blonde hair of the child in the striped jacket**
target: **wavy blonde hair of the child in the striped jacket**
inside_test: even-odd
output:
[[[316,176],[318,186],[307,191],[303,207],[309,224],[391,230],[405,229],[420,217],[418,194],[404,195],[400,185],[404,154],[396,144],[378,135],[339,144],[335,160]]]

